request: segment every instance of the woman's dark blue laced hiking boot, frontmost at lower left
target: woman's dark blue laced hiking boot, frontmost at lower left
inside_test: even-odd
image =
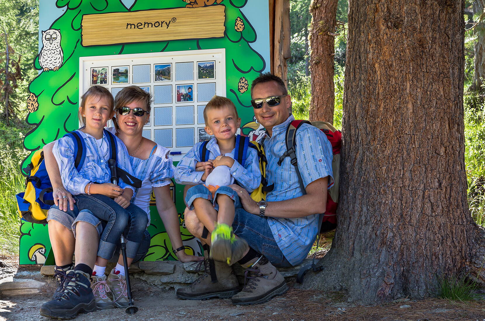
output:
[[[90,287],[89,275],[69,270],[58,295],[40,307],[40,315],[53,319],[71,319],[78,313],[96,311],[96,300]]]

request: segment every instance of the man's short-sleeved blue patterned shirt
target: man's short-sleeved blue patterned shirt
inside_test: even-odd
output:
[[[281,166],[277,164],[279,157],[286,152],[286,129],[293,120],[294,117],[290,115],[285,122],[273,127],[272,137],[266,135],[263,142],[268,159],[266,178],[269,184],[275,184],[273,191],[266,196],[269,202],[295,199],[303,195],[290,157],[286,157]],[[328,188],[333,185],[332,145],[320,129],[308,124],[303,124],[298,129],[296,157],[305,187],[327,176]],[[292,265],[300,264],[307,257],[317,236],[318,216],[319,214],[297,218],[268,217],[276,244]]]

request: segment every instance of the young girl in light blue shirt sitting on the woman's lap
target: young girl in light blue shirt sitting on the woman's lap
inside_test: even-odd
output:
[[[81,169],[74,167],[74,142],[70,137],[57,140],[53,147],[54,157],[59,165],[62,182],[76,200],[79,211],[91,211],[101,221],[106,221],[97,249],[95,273],[89,266],[81,266],[81,271],[95,276],[95,281],[106,280],[104,268],[112,258],[116,245],[123,232],[126,239],[129,261],[137,255],[137,250],[144,239],[148,223],[145,211],[131,204],[134,188],[123,180],[119,185],[110,182],[111,174],[108,165],[110,158],[110,134],[104,131],[106,122],[113,118],[113,96],[102,86],[93,86],[81,97],[79,119],[81,127],[76,132],[84,139],[86,156]],[[128,151],[121,140],[112,136],[117,142],[118,167],[133,174]],[[73,231],[78,222],[90,222],[89,215],[78,215],[72,223]],[[93,224],[97,225],[99,222]],[[79,265],[79,264],[78,264]],[[101,271],[102,270],[102,271]],[[96,297],[97,308],[113,307],[111,300]]]

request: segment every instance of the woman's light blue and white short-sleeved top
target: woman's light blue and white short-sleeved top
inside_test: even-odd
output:
[[[106,128],[115,134],[114,127]],[[153,187],[170,184],[174,177],[175,167],[172,157],[168,157],[170,150],[157,144],[154,153],[147,159],[129,156],[134,175],[142,181],[142,187],[135,189],[131,202],[144,210],[148,215],[150,225],[150,197]]]

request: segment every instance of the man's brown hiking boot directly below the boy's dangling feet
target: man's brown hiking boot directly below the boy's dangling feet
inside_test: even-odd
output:
[[[207,252],[204,254],[206,259],[200,261],[204,264],[204,274],[191,285],[177,289],[177,297],[184,300],[227,299],[239,292],[239,282],[232,268],[224,262],[209,259]]]

